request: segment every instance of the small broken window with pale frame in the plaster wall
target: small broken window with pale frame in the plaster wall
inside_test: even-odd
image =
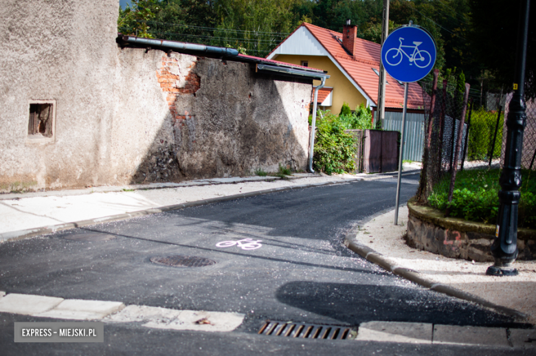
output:
[[[56,102],[38,100],[30,102],[28,140],[30,142],[54,142]]]

